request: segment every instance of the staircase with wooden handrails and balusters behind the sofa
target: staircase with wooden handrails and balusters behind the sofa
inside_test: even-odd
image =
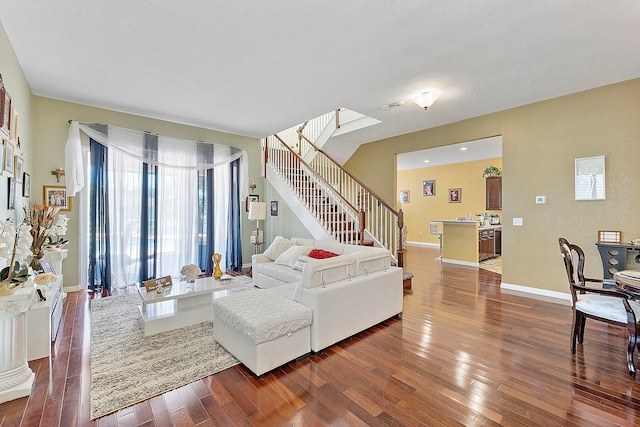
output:
[[[285,142],[277,134],[264,138],[263,175],[315,239],[384,247],[402,267],[402,210],[388,205],[312,142],[324,144],[331,130],[339,130],[339,116],[337,110],[303,124],[296,130],[297,141]],[[410,289],[412,276],[405,272],[405,289]]]

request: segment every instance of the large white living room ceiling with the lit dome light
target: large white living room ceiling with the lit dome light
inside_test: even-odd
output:
[[[382,121],[345,153],[640,77],[637,0],[0,0],[0,21],[36,95],[251,137]]]

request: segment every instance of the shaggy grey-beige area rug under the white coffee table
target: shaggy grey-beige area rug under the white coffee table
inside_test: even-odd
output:
[[[239,363],[213,322],[145,337],[138,304],[136,294],[91,301],[92,420]]]

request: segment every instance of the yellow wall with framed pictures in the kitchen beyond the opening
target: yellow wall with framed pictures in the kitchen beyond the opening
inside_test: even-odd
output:
[[[396,205],[404,212],[409,242],[438,244],[438,237],[429,233],[429,222],[432,220],[455,219],[466,216],[469,212],[474,219],[476,213],[497,213],[487,211],[486,186],[482,173],[489,166],[502,168],[502,159],[476,160],[473,162],[453,163],[450,165],[431,166],[419,169],[398,171],[398,192]],[[435,180],[435,196],[422,195],[422,182]],[[449,203],[449,188],[461,188],[460,203]],[[400,203],[400,191],[409,190],[409,203]]]

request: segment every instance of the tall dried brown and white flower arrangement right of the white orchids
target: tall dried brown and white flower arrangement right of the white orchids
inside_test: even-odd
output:
[[[59,207],[30,203],[24,209],[24,222],[31,227],[31,268],[35,271],[41,270],[40,259],[44,256],[42,252],[45,242],[51,236],[62,236],[67,233],[67,222],[69,219],[65,215],[58,215]]]

